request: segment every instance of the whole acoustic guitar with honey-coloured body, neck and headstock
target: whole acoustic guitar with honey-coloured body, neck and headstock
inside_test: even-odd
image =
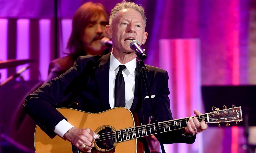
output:
[[[215,109],[215,110],[214,110]],[[136,126],[138,122],[135,114],[124,107],[116,107],[100,113],[87,113],[84,111],[71,108],[57,109],[63,116],[68,119],[68,122],[78,128],[90,127],[99,139],[95,140],[93,153],[101,152],[118,152],[118,153],[135,153],[144,152],[143,145],[137,138],[156,134],[155,124]],[[195,117],[195,116],[193,116]],[[223,110],[213,107],[213,112],[196,116],[199,121],[204,120],[206,123],[225,123],[242,121],[241,107],[233,107]],[[170,121],[159,122],[161,133],[181,129],[187,126],[189,117],[175,119]],[[79,150],[72,145],[68,140],[59,136],[50,138],[43,132],[39,126],[35,129],[35,152],[36,153],[63,153],[63,152],[78,152]]]

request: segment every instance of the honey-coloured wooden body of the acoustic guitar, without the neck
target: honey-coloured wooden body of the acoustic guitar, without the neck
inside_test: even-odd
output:
[[[101,113],[87,113],[71,108],[59,108],[57,109],[63,116],[68,119],[68,122],[78,128],[88,128],[94,131],[96,134],[100,129],[105,126],[111,127],[113,130],[125,129],[128,127],[135,127],[134,117],[130,110],[124,107],[116,107]],[[138,145],[139,143],[139,145]],[[143,145],[137,139],[130,141],[115,143],[115,147],[108,149],[107,152],[143,152]],[[137,146],[140,146],[139,148]],[[97,145],[95,144],[97,148]],[[92,149],[92,152],[105,152],[96,148]],[[39,126],[35,130],[35,152],[36,153],[59,153],[59,152],[72,152],[71,142],[55,136],[50,138]]]

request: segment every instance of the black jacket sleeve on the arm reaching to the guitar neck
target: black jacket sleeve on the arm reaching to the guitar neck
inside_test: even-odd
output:
[[[170,110],[170,99],[168,97],[168,95],[170,94],[169,87],[168,87],[168,78],[169,78],[168,73],[167,71],[163,73],[158,73],[155,75],[154,78],[158,78],[157,75],[161,75],[159,76],[159,78],[162,78],[160,79],[161,81],[157,79],[160,84],[157,85],[159,92],[157,93],[155,103],[154,103],[154,108],[155,108],[156,116],[158,118],[158,122],[173,120],[172,113]],[[193,136],[193,137],[183,136],[182,129],[179,129],[179,130],[173,130],[173,131],[163,133],[162,138],[163,138],[164,144],[171,144],[171,143],[191,144],[191,143],[194,143],[196,136]]]

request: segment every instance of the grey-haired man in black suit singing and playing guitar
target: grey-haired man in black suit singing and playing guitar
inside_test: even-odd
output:
[[[111,53],[79,57],[73,68],[27,96],[24,110],[47,134],[56,133],[84,152],[91,152],[93,142],[99,136],[90,129],[90,125],[86,129],[73,127],[55,109],[70,95],[76,96],[82,111],[98,113],[123,106],[136,112],[141,124],[148,124],[152,108],[149,99],[145,97],[149,95],[141,86],[137,56],[129,46],[133,40],[140,44],[146,42],[148,33],[145,32],[145,26],[146,17],[141,6],[126,1],[116,4],[110,13],[109,25],[105,27],[106,36],[113,42]],[[172,120],[167,71],[148,65],[147,70],[147,82],[151,95],[154,95],[151,97],[156,117],[159,122]],[[194,113],[200,114],[196,110]],[[204,121],[190,118],[187,127],[162,134],[163,142],[193,143],[195,134],[206,128]],[[146,139],[138,141],[144,144],[145,152],[149,152]]]

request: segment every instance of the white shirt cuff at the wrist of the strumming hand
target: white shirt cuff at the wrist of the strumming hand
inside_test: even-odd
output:
[[[64,134],[72,127],[74,126],[71,125],[68,121],[62,120],[55,126],[54,132],[64,138]]]

